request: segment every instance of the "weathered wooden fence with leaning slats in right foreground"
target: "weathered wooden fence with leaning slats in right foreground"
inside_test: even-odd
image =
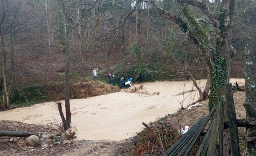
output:
[[[211,110],[210,114],[195,123],[189,131],[181,136],[162,156],[187,156],[200,136],[203,135],[195,156],[229,156],[228,137],[224,129],[229,128],[231,149],[233,156],[240,156],[238,126],[246,127],[256,125],[256,110],[250,103],[243,104],[249,116],[254,118],[236,119],[235,105],[232,94],[231,83],[224,85],[224,96],[221,97],[218,108]],[[224,107],[228,122],[224,123]],[[208,121],[211,120],[206,133],[202,133]],[[219,138],[218,146],[217,139]],[[246,141],[252,141],[253,138],[245,138]],[[254,138],[254,140],[256,140]]]

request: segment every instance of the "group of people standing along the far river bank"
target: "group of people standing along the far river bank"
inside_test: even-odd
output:
[[[96,81],[97,80],[97,71],[98,71],[99,68],[94,68],[93,70],[93,76],[94,76],[94,80]],[[112,79],[112,83],[113,83],[113,86],[115,86],[115,81],[116,81],[116,75],[114,74],[113,76],[111,75],[111,71],[108,72],[108,83],[111,84],[111,79]],[[130,87],[132,86],[132,78],[129,78],[127,81],[124,80],[124,76],[121,77],[121,79],[119,80],[119,83],[120,83],[120,88],[123,88],[123,85],[124,85],[124,88],[127,88],[127,87]]]

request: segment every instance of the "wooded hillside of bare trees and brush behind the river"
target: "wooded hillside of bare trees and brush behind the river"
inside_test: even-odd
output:
[[[185,14],[176,0],[155,0],[173,14]],[[220,1],[204,2],[211,12],[221,13]],[[63,8],[69,11],[65,21]],[[70,83],[106,80],[109,70],[135,80],[207,78],[206,60],[188,34],[160,15],[156,5],[135,0],[1,0],[0,1],[0,99],[32,84],[63,83],[65,26],[70,26]],[[205,29],[215,47],[215,29],[198,8],[191,17]],[[234,16],[231,77],[244,75],[244,48],[255,34],[256,3],[238,0]],[[184,11],[184,12],[182,12]],[[183,20],[187,20],[182,17]],[[203,40],[203,39],[202,39]],[[213,48],[214,49],[214,48]]]

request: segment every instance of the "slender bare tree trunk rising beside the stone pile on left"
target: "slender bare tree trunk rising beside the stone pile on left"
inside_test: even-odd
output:
[[[63,1],[63,4],[65,1]],[[66,62],[65,62],[65,109],[66,109],[66,123],[64,123],[64,129],[67,130],[70,128],[71,123],[71,112],[70,112],[70,103],[69,103],[69,62],[70,62],[70,49],[69,49],[69,16],[67,6],[64,10],[65,16],[65,39],[66,39]]]

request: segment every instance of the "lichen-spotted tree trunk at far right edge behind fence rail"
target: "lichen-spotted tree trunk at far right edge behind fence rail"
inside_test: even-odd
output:
[[[248,46],[245,49],[245,71],[244,71],[244,80],[245,80],[245,97],[246,102],[251,102],[253,107],[256,107],[256,75],[255,75],[255,66],[256,66],[256,37],[248,38]],[[251,117],[248,114],[247,118]],[[247,127],[247,136],[256,136],[256,126]],[[245,153],[247,156],[256,155],[256,147],[254,142],[248,142],[245,147]]]

